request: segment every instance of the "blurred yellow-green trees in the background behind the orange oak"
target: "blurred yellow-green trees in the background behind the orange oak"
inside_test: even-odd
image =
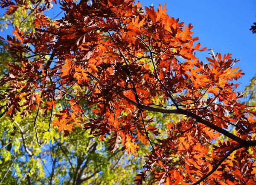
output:
[[[29,11],[22,11],[22,7],[19,7],[14,14],[4,14],[0,17],[0,28],[17,26],[29,33],[29,30],[35,29],[32,18],[33,15],[29,14]],[[15,60],[12,54],[3,48],[4,44],[6,43],[1,41],[0,77],[8,71],[6,63]],[[0,94],[4,94],[7,88],[8,84],[1,86]],[[61,104],[56,106],[60,107]],[[89,116],[91,109],[86,110]],[[81,128],[77,128],[69,137],[64,137],[57,129],[45,132],[49,129],[50,115],[37,119],[38,136],[43,141],[43,146],[40,147],[36,144],[34,125],[31,124],[36,113],[32,111],[26,119],[18,116],[10,120],[9,115],[3,116],[0,122],[0,184],[133,183],[139,167],[143,165],[143,153],[148,152],[148,147],[140,151],[142,157],[132,158],[125,155],[120,148],[115,153],[107,151],[106,141],[93,139]]]

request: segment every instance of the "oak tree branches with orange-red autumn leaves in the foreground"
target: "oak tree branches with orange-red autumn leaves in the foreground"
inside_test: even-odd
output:
[[[256,112],[235,91],[239,60],[212,51],[200,62],[195,52],[207,48],[165,6],[69,0],[61,2],[65,16],[50,24],[43,10],[51,2],[40,3],[32,1],[35,32],[16,28],[7,38],[16,60],[0,83],[9,84],[1,116],[36,111],[37,131],[39,115],[55,109],[52,125],[64,136],[83,125],[94,137],[109,137],[113,152],[121,145],[136,156],[140,143],[148,145],[137,184],[255,184]],[[26,7],[5,0],[2,6],[9,13]],[[88,107],[94,117],[84,114]],[[163,129],[152,112],[180,119]]]

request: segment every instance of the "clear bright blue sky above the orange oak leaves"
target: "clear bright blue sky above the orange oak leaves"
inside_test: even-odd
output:
[[[241,58],[236,64],[245,75],[242,77],[239,91],[249,84],[250,79],[256,74],[256,34],[249,30],[256,22],[255,0],[141,0],[144,6],[153,3],[155,9],[159,4],[165,4],[170,17],[180,18],[180,22],[192,23],[193,36],[199,37],[203,47],[213,48],[216,53],[232,53],[234,58]],[[54,9],[47,14],[54,17],[60,9]],[[0,10],[3,14],[3,9]],[[61,18],[59,16],[58,18]],[[0,33],[6,37],[12,34],[11,30]],[[209,51],[198,53],[200,60],[205,61]]]

